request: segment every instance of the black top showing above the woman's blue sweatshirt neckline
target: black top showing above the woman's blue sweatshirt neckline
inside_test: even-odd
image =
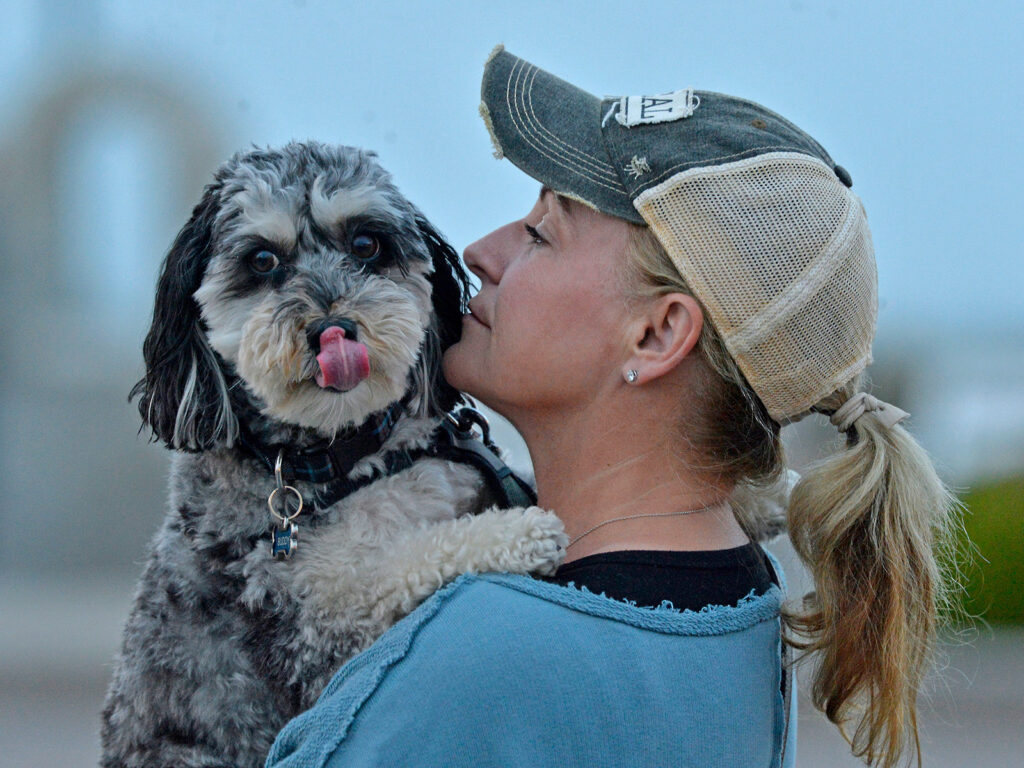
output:
[[[641,607],[663,600],[683,610],[735,605],[775,583],[768,556],[753,542],[741,547],[699,552],[626,550],[601,552],[562,565],[545,581],[577,587]]]

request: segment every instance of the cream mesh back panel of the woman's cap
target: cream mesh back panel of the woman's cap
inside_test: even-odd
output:
[[[774,419],[806,413],[870,361],[871,236],[824,163],[772,153],[693,169],[635,205]]]

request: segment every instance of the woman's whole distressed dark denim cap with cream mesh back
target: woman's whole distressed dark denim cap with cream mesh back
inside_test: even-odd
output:
[[[498,158],[651,227],[768,413],[806,415],[871,359],[873,248],[850,174],[745,99],[597,96],[498,46],[480,114]]]

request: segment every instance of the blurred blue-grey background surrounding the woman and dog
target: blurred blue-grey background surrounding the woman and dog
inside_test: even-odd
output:
[[[376,150],[461,250],[538,185],[477,116],[492,47],[601,94],[753,98],[854,178],[879,259],[874,391],[969,508],[973,629],[924,707],[926,765],[1024,748],[1019,3],[2,0],[0,755],[88,766],[166,453],[127,402],[160,261],[212,170],[292,138]],[[500,427],[512,461],[521,443]],[[793,462],[835,431],[787,428]],[[785,542],[776,551],[801,581]],[[853,765],[802,707],[802,766]]]

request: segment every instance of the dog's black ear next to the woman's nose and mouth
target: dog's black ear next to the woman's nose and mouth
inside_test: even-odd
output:
[[[462,315],[469,301],[469,273],[462,265],[459,254],[423,215],[417,215],[416,224],[427,244],[434,265],[434,270],[430,273],[430,289],[434,310],[435,349],[427,348],[424,352],[428,369],[426,384],[430,389],[427,400],[432,400],[431,415],[440,416],[462,401],[459,391],[444,380],[441,354],[459,341],[462,335]]]

